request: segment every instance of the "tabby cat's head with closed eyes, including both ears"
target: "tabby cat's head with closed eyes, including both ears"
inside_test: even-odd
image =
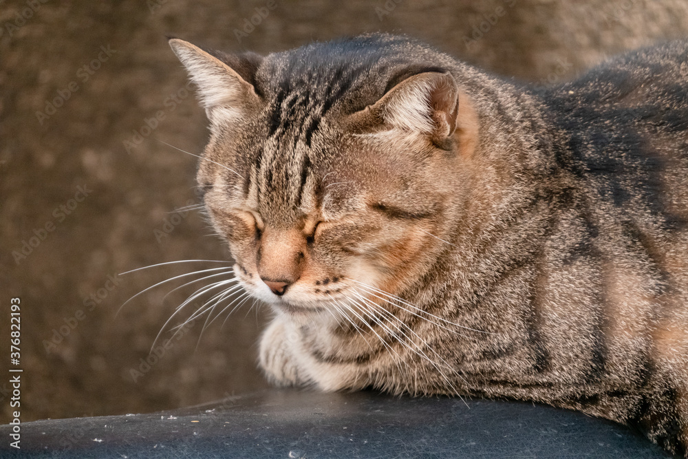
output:
[[[198,184],[252,295],[336,311],[402,290],[447,248],[471,133],[427,50],[385,35],[268,56],[170,43],[211,121]]]

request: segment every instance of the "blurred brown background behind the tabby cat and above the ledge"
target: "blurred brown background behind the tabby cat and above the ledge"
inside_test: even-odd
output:
[[[193,285],[166,298],[183,282],[147,290],[116,315],[159,281],[215,266],[118,273],[228,256],[202,215],[182,209],[196,203],[196,159],[166,144],[197,154],[208,132],[166,35],[268,53],[403,33],[548,85],[688,36],[688,2],[2,0],[0,25],[0,372],[10,366],[10,299],[19,297],[28,421],[152,412],[266,386],[256,342],[267,318],[251,301],[202,337],[204,318],[174,339],[164,331],[158,345],[168,345],[153,354]],[[10,419],[7,381],[0,423]]]

